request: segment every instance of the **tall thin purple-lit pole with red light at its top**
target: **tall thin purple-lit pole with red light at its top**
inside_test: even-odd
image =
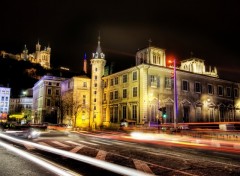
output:
[[[174,128],[177,128],[177,110],[178,110],[178,100],[177,100],[177,75],[176,75],[176,59],[173,60],[173,85],[174,85]]]

